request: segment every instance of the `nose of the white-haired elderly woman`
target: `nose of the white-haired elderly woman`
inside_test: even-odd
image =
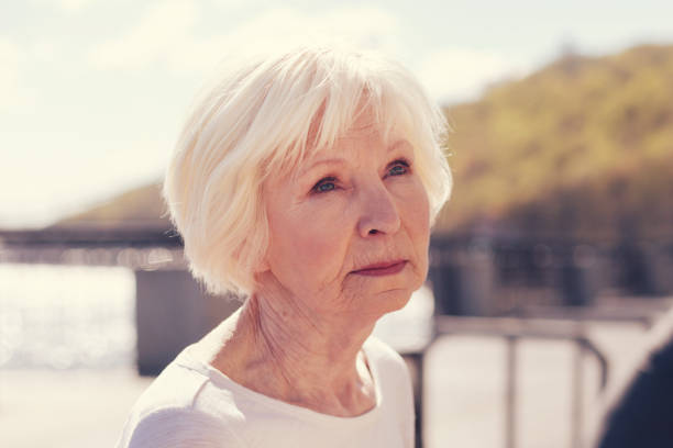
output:
[[[361,215],[357,223],[360,236],[366,238],[377,234],[395,234],[400,226],[395,199],[384,184],[361,191]]]

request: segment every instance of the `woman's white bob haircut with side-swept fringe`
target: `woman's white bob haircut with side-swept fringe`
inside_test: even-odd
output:
[[[164,182],[191,273],[214,294],[250,293],[266,254],[263,182],[330,147],[363,110],[404,132],[433,223],[449,198],[446,122],[410,72],[375,53],[298,47],[236,65],[205,90]]]

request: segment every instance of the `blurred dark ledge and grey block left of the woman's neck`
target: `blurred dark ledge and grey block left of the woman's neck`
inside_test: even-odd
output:
[[[206,293],[188,272],[179,236],[158,224],[0,231],[0,262],[133,271],[136,367],[153,376],[240,305]]]

